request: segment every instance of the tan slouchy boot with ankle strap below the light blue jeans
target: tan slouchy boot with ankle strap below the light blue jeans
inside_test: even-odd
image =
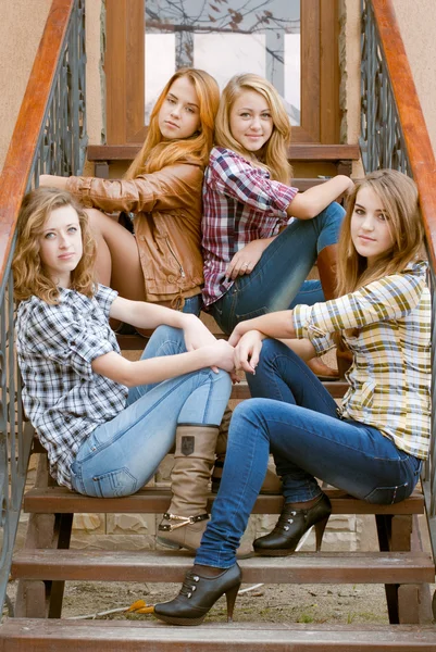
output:
[[[174,466],[171,472],[173,497],[159,525],[158,541],[170,548],[197,550],[205,529],[211,469],[215,460],[217,426],[177,426]]]

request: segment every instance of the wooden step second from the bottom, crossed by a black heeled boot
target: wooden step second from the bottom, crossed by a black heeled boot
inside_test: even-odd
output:
[[[425,552],[297,552],[288,557],[240,560],[249,584],[433,582],[435,566]],[[174,551],[21,550],[13,579],[182,582],[192,555]]]

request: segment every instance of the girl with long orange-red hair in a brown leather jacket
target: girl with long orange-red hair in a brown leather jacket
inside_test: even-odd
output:
[[[122,297],[199,314],[201,184],[220,100],[208,73],[180,68],[150,117],[145,143],[122,180],[42,175],[87,208],[97,239],[99,281]],[[127,213],[132,234],[112,213]]]

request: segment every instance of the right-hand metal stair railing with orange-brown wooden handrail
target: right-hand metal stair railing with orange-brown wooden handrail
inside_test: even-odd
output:
[[[391,0],[362,0],[361,137],[370,172],[391,167],[413,177],[420,192],[432,293],[432,440],[422,473],[436,561],[436,162]]]

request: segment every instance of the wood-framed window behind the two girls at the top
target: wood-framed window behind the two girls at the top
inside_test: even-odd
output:
[[[337,0],[107,0],[107,140],[144,140],[171,75],[202,67],[269,78],[294,142],[339,141]]]

